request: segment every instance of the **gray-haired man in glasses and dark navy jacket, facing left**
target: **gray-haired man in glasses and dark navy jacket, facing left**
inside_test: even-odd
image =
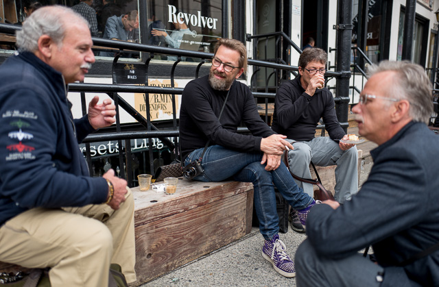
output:
[[[439,286],[439,137],[431,83],[410,62],[381,62],[353,108],[379,147],[351,201],[323,201],[296,253],[298,286]],[[372,245],[377,264],[358,251]]]

